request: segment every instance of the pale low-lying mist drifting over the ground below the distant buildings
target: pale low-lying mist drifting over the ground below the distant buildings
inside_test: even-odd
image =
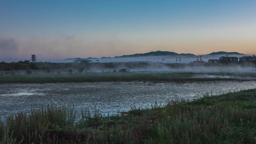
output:
[[[248,65],[214,65],[214,64],[164,64],[164,63],[119,63],[113,64],[112,68],[105,67],[101,64],[92,65],[89,69],[94,72],[113,71],[121,68],[127,68],[132,72],[183,72],[183,73],[254,73],[256,72],[255,64]]]

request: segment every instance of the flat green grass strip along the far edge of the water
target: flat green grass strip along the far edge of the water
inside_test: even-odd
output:
[[[0,83],[55,83],[55,82],[115,82],[115,81],[211,81],[235,80],[233,78],[205,78],[202,73],[72,73],[72,74],[22,74],[0,76]]]

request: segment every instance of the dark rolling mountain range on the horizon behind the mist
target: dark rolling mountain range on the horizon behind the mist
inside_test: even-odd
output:
[[[238,52],[212,52],[206,55],[199,55],[199,56],[216,56],[216,55],[245,55],[243,53]],[[137,57],[144,57],[144,56],[186,56],[186,57],[195,57],[197,55],[191,54],[191,53],[175,53],[175,52],[168,52],[168,51],[155,51],[155,52],[147,52],[147,53],[136,53],[134,55],[122,55],[122,56],[115,56],[113,58],[137,58]],[[101,57],[101,58],[111,58],[111,57]],[[65,60],[75,60],[80,58],[67,58]],[[88,59],[97,59],[97,58],[91,58]]]

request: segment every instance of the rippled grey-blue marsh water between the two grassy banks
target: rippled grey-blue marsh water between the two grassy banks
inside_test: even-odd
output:
[[[3,120],[7,114],[51,103],[74,104],[77,110],[98,108],[103,114],[116,113],[155,102],[166,104],[174,98],[193,99],[251,88],[256,88],[256,81],[0,84],[0,117]]]

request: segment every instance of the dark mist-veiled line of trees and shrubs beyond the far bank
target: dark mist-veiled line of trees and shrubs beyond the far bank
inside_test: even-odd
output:
[[[239,62],[237,64],[230,64],[229,62],[224,62],[221,64],[209,64],[204,63],[200,65],[195,65],[193,63],[187,64],[176,64],[176,63],[158,63],[158,62],[109,62],[109,63],[51,63],[51,62],[36,62],[31,63],[27,61],[19,61],[19,62],[0,62],[0,71],[22,71],[22,70],[41,70],[41,71],[49,71],[49,70],[69,70],[69,69],[83,69],[84,71],[94,71],[94,70],[119,70],[121,68],[127,68],[128,70],[131,69],[155,69],[159,70],[161,68],[168,68],[168,69],[179,69],[179,68],[186,68],[186,67],[205,67],[205,68],[212,68],[214,67],[221,67],[223,69],[227,69],[228,67],[240,67],[240,68],[255,68],[256,62],[252,63],[243,63]]]

